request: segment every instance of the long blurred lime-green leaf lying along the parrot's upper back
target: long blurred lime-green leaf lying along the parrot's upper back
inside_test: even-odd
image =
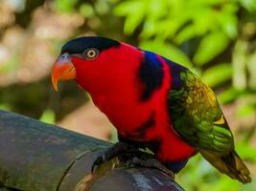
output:
[[[143,41],[140,43],[140,48],[153,53],[159,53],[180,65],[193,68],[188,56],[172,44],[165,44],[159,41]]]

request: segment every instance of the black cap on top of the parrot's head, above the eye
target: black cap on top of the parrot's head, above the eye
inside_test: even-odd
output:
[[[83,36],[68,41],[62,46],[61,53],[82,53],[88,48],[95,48],[101,52],[119,45],[120,42],[110,38],[101,36]]]

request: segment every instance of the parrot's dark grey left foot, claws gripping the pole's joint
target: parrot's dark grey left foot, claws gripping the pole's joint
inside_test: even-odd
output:
[[[117,142],[108,149],[106,149],[101,156],[94,160],[91,167],[91,173],[93,174],[96,167],[100,164],[104,163],[105,161],[109,161],[110,159],[113,159],[115,157],[119,157],[122,153],[136,153],[138,151],[138,148],[134,148],[126,142]]]

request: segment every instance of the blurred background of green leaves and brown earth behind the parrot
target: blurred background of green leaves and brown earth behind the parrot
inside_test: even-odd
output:
[[[199,155],[177,176],[194,191],[256,189],[256,0],[0,0],[0,109],[116,141],[74,82],[54,92],[61,45],[104,35],[161,53],[212,87],[253,182],[218,173]]]

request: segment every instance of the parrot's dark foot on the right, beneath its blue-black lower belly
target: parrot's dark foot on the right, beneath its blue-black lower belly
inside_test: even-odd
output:
[[[142,166],[147,168],[157,169],[164,174],[168,175],[171,179],[175,179],[175,173],[165,167],[159,160],[157,159],[139,159],[134,157],[132,159],[128,159],[127,165],[130,166]]]

